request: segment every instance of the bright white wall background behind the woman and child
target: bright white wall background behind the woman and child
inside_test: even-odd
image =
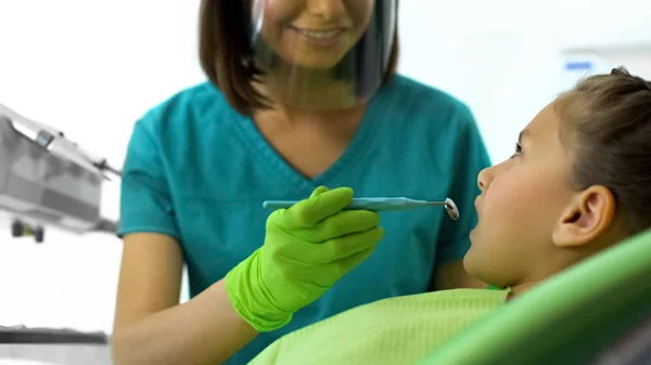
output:
[[[0,0],[0,103],[119,166],[135,120],[203,80],[197,8],[199,0]],[[585,49],[605,68],[624,62],[651,78],[650,18],[646,0],[400,0],[400,70],[464,100],[499,160],[566,84],[563,50]],[[106,185],[103,213],[112,219],[118,185]],[[111,330],[118,239],[49,230],[37,246],[0,224],[0,326]]]

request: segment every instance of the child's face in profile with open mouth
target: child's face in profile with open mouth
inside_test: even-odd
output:
[[[573,159],[561,143],[560,126],[550,104],[521,133],[513,156],[477,178],[478,223],[464,266],[485,283],[539,282],[559,269],[552,236],[576,195],[569,183]]]

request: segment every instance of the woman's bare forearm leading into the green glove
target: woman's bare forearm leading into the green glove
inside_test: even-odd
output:
[[[190,301],[116,328],[116,365],[220,364],[257,336],[220,281]]]

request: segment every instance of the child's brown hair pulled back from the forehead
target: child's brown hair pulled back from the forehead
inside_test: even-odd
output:
[[[631,234],[651,227],[651,82],[614,68],[580,80],[559,102],[577,146],[577,187],[608,187]]]

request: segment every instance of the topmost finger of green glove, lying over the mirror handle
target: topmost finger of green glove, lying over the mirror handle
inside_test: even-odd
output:
[[[353,199],[353,190],[339,187],[296,203],[282,211],[288,227],[308,227],[346,208]]]

